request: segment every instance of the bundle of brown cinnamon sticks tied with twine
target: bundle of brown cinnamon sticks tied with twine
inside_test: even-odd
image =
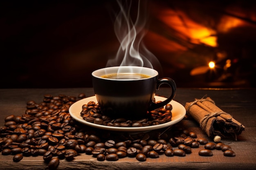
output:
[[[245,126],[236,121],[229,113],[224,112],[210,97],[195,99],[186,103],[186,112],[193,117],[209,137],[234,138],[245,130]]]

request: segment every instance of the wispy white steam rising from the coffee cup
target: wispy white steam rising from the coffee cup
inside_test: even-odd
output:
[[[146,34],[145,26],[147,13],[142,10],[141,2],[138,1],[138,13],[135,22],[130,18],[131,1],[128,4],[122,4],[117,0],[120,7],[114,22],[114,30],[117,39],[120,42],[119,49],[115,58],[108,60],[106,67],[110,66],[143,66],[153,68],[160,66],[159,61],[151,53],[142,39]],[[146,9],[144,7],[144,9]]]

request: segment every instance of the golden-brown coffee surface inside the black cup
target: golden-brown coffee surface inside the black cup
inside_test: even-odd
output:
[[[107,79],[145,79],[149,78],[149,75],[146,74],[139,74],[139,73],[113,73],[113,74],[107,74],[102,75],[102,78]]]

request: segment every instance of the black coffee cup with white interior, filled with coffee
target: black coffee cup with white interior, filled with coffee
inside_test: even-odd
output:
[[[173,79],[158,79],[156,70],[139,66],[106,67],[93,71],[92,84],[101,111],[111,118],[145,118],[148,111],[168,104],[176,94]],[[162,102],[153,102],[161,84],[171,87],[171,95]]]

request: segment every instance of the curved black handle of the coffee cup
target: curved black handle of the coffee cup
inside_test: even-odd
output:
[[[172,93],[166,100],[164,100],[162,102],[159,102],[159,103],[152,102],[152,104],[149,107],[149,110],[155,110],[157,108],[161,108],[162,106],[171,102],[171,100],[175,97],[175,95],[176,95],[176,84],[173,81],[173,79],[168,78],[168,77],[158,79],[157,80],[157,90],[159,89],[159,87],[162,84],[168,84],[172,88]]]

